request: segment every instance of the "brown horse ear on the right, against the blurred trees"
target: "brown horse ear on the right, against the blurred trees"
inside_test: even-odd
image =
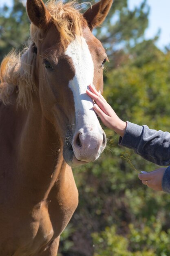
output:
[[[101,0],[93,4],[92,7],[84,13],[84,18],[87,20],[91,30],[104,22],[112,3],[113,0]]]

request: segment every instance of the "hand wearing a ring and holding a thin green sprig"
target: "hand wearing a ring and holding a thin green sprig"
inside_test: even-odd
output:
[[[162,191],[162,179],[167,167],[161,167],[151,172],[139,173],[138,177],[149,188]]]

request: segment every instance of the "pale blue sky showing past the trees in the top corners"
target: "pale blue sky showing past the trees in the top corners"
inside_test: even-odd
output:
[[[0,7],[4,3],[11,6],[12,0],[0,0]],[[130,9],[139,6],[142,0],[128,0]],[[147,0],[150,6],[149,27],[146,30],[146,39],[153,38],[158,29],[161,29],[161,35],[157,46],[161,49],[170,44],[170,0]]]

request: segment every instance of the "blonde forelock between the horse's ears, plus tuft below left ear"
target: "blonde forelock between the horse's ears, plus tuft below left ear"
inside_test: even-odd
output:
[[[51,15],[53,25],[60,33],[60,43],[66,49],[75,36],[82,36],[83,28],[87,26],[87,22],[80,12],[82,4],[78,4],[76,1],[63,4],[62,1],[49,0],[46,3],[46,8]],[[38,40],[42,40],[40,29],[33,23],[31,23],[31,38],[35,44],[38,43]]]

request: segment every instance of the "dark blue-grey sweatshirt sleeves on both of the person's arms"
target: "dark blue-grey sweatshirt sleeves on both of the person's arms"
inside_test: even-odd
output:
[[[135,150],[144,159],[160,166],[170,165],[170,133],[151,130],[148,126],[139,126],[127,121],[124,137],[119,145]],[[162,189],[170,193],[170,166],[166,168],[162,180]]]

